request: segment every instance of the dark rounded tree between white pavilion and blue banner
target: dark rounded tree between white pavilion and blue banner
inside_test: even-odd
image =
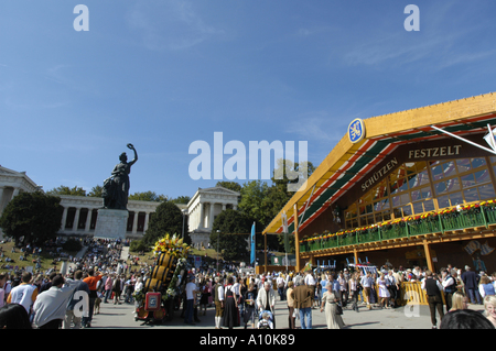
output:
[[[237,260],[247,254],[247,239],[251,231],[251,218],[245,213],[226,209],[214,220],[209,238],[211,244],[217,250],[218,237],[218,249],[224,252],[224,260]]]

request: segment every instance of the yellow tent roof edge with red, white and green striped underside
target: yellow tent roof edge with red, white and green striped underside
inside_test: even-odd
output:
[[[363,122],[365,138],[354,144],[344,135],[263,234],[282,232],[283,213],[288,217],[288,231],[294,232],[294,205],[299,231],[303,230],[398,146],[451,138],[431,125],[463,136],[487,131],[487,124],[496,124],[496,95],[490,92],[373,117]]]

